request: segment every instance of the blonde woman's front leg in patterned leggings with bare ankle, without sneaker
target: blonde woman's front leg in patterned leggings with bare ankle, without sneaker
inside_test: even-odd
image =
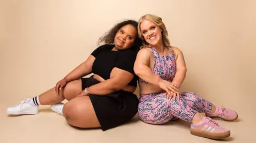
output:
[[[198,123],[203,119],[201,114],[189,107],[183,99],[181,100],[181,104],[176,104],[175,102],[172,103],[166,98],[165,92],[143,95],[140,97],[138,114],[142,121],[151,124],[163,124],[175,117],[193,123]],[[170,108],[170,106],[172,107]],[[170,112],[171,109],[173,109],[172,112]]]

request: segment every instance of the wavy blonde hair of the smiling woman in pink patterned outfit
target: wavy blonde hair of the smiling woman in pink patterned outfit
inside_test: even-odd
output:
[[[162,18],[160,18],[159,16],[156,16],[154,14],[146,14],[141,16],[141,18],[139,19],[139,24],[138,24],[138,33],[139,33],[139,37],[141,39],[143,39],[143,35],[141,33],[141,29],[140,29],[140,24],[143,20],[150,20],[151,22],[155,23],[159,28],[162,29],[162,40],[163,40],[163,44],[164,47],[168,48],[171,50],[172,53],[174,53],[172,46],[170,44],[169,38],[168,38],[168,31],[166,30],[165,24],[162,21]],[[145,48],[148,47],[148,43],[146,42],[146,40],[143,40],[143,44],[140,48]]]

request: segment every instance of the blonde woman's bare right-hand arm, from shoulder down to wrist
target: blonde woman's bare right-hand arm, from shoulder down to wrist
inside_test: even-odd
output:
[[[185,59],[184,56],[181,52],[181,50],[177,47],[172,47],[173,51],[175,52],[175,54],[177,55],[177,60],[176,60],[176,69],[177,72],[175,73],[174,79],[172,81],[172,83],[177,86],[177,88],[180,88],[180,86],[182,85],[182,82],[184,81],[185,77],[186,77],[186,72],[187,72],[187,67],[186,67],[186,63],[185,63]]]

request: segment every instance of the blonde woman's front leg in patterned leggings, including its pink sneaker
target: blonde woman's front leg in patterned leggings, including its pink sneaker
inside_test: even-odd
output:
[[[173,116],[179,117],[190,122],[190,132],[200,137],[219,139],[230,136],[228,129],[221,128],[210,117],[199,114],[184,99],[167,99],[164,92],[141,96],[138,114],[142,121],[151,124],[163,124],[169,122]]]

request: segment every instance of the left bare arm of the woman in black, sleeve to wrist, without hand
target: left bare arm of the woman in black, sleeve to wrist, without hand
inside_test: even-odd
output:
[[[84,77],[87,74],[92,73],[92,64],[95,60],[95,57],[90,55],[86,61],[78,65],[73,71],[66,75],[65,79],[67,82],[79,79]]]

